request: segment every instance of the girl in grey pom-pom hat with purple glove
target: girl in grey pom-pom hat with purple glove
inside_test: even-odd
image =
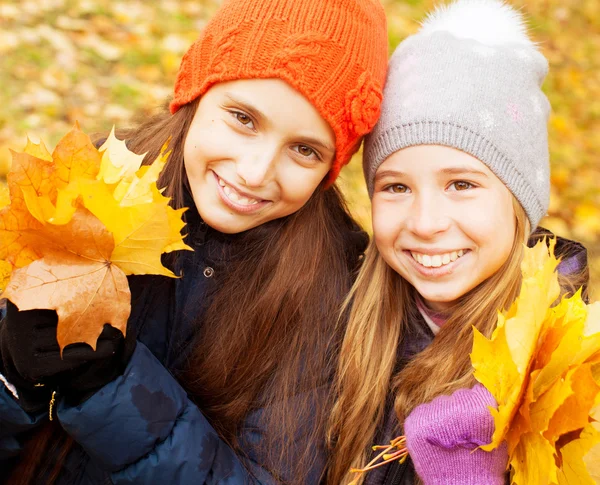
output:
[[[491,336],[519,292],[523,245],[542,232],[547,69],[499,0],[436,10],[392,56],[365,147],[374,240],[347,299],[330,483],[401,434],[410,459],[364,483],[411,484],[415,470],[426,485],[505,483],[506,445],[478,449],[496,402],[469,354],[472,326]],[[559,238],[556,252],[562,292],[585,286],[585,249]]]

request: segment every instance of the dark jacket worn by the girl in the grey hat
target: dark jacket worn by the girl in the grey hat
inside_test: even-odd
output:
[[[552,234],[545,229],[538,228],[530,238],[530,245],[544,235],[551,236]],[[559,273],[569,275],[587,270],[587,251],[581,244],[559,237],[555,253],[562,257],[558,266]],[[410,334],[402,348],[398,349],[397,371],[402,368],[403,364],[424,350],[434,338],[433,332],[419,313],[414,316],[408,331]],[[393,396],[389,396],[386,403],[386,417],[376,432],[373,444],[389,443],[393,438],[402,434],[393,404]],[[402,464],[394,462],[368,472],[364,481],[364,485],[414,485],[414,483],[415,470],[410,457]]]

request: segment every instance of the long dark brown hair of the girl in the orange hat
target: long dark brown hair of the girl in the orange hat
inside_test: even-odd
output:
[[[159,186],[166,187],[175,208],[184,206],[183,145],[197,104],[174,115],[165,110],[139,128],[117,133],[130,150],[146,153],[144,163],[155,160],[170,140]],[[267,434],[260,459],[276,475],[285,471],[278,476],[281,482],[305,483],[317,459],[312,445],[325,440],[328,383],[341,339],[337,316],[363,249],[349,240],[362,239],[356,229],[332,186],[317,188],[296,213],[243,234],[243,251],[220,275],[212,302],[197,322],[189,364],[178,376],[220,436],[240,453],[244,418],[259,407],[268,410],[261,417]],[[167,264],[174,266],[176,258],[177,253],[170,254]],[[32,443],[46,439],[49,429],[61,431],[50,423]],[[72,446],[67,441],[64,448]],[[66,454],[61,450],[63,460]],[[14,483],[39,480],[36,468],[47,466],[37,461],[25,454]],[[55,463],[54,469],[61,465]],[[30,481],[22,480],[25,474]]]

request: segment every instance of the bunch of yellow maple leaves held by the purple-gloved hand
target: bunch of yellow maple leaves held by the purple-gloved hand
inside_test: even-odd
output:
[[[600,302],[556,303],[553,253],[526,249],[519,298],[490,340],[475,330],[474,376],[498,402],[482,449],[506,440],[513,484],[600,484]]]

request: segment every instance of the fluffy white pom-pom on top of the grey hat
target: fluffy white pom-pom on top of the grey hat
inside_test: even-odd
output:
[[[421,25],[420,34],[442,31],[489,46],[517,43],[536,47],[521,13],[502,0],[456,0],[438,6]]]

